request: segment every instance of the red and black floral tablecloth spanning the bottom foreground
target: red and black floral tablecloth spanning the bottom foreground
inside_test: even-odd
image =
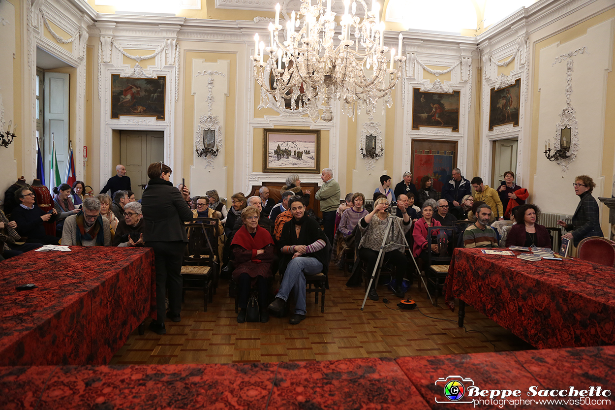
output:
[[[584,405],[560,401],[518,404],[518,409],[615,408],[615,347],[277,364],[6,367],[0,368],[0,392],[3,409],[472,408],[461,403],[472,400],[467,395],[459,402],[446,398],[444,383],[436,382],[448,376],[459,376],[465,392],[470,385],[519,389],[525,400],[531,386],[611,391]]]

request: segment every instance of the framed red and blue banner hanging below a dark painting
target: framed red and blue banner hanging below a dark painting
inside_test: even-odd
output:
[[[432,187],[439,195],[457,166],[457,142],[413,140],[411,150],[411,171],[416,189],[421,188],[421,179],[429,175],[433,180]]]

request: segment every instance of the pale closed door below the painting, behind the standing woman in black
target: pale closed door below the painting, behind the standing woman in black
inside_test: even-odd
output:
[[[164,132],[131,130],[120,133],[120,163],[126,167],[137,201],[149,180],[149,164],[163,160]]]

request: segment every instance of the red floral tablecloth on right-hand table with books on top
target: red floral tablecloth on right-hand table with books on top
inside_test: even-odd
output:
[[[615,344],[614,268],[455,249],[445,287],[534,347]]]

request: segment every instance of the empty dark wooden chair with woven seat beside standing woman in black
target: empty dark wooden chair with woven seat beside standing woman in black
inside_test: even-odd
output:
[[[208,218],[207,218],[208,219]],[[186,291],[203,291],[204,312],[207,312],[207,302],[213,302],[213,279],[216,276],[218,220],[215,225],[207,225],[205,221],[186,223],[189,229],[188,254],[184,257],[181,267],[183,288],[181,299]],[[212,239],[216,246],[212,244]]]

